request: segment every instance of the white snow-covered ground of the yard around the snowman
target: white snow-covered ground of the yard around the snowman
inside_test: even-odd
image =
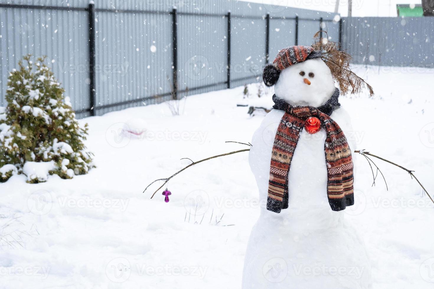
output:
[[[433,70],[358,68],[376,96],[341,97],[358,147],[415,170],[434,194]],[[0,288],[240,288],[258,192],[238,153],[193,166],[168,183],[170,202],[151,181],[193,161],[248,148],[263,114],[250,117],[243,87],[194,95],[181,115],[167,104],[89,117],[86,142],[96,169],[63,180],[0,184]],[[267,100],[268,99],[268,100]],[[140,134],[141,128],[146,132]],[[135,134],[121,133],[131,131]],[[136,135],[138,134],[138,135]],[[346,218],[365,238],[374,288],[434,286],[433,204],[401,169],[354,156],[356,204]],[[306,207],[308,209],[308,207]],[[229,226],[230,225],[230,226]]]

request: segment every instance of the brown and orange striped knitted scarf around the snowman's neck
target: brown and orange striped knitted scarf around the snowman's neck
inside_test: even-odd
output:
[[[339,90],[337,91],[339,96]],[[340,211],[346,206],[354,205],[351,150],[341,128],[329,117],[333,109],[324,113],[322,107],[291,106],[276,96],[273,96],[273,101],[276,103],[274,108],[284,110],[285,114],[280,120],[273,143],[267,210],[280,213],[282,209],[288,208],[289,167],[300,133],[309,117],[317,117],[327,133],[324,151],[330,207],[333,211]]]

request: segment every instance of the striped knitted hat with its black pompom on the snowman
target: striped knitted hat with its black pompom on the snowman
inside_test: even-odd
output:
[[[322,53],[315,51],[312,46],[289,46],[279,51],[273,64],[267,64],[262,78],[266,86],[274,85],[279,79],[280,71],[308,59],[320,58]]]

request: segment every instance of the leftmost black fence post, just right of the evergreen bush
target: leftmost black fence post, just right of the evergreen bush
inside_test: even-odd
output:
[[[89,97],[90,115],[95,115],[95,6],[89,4]]]

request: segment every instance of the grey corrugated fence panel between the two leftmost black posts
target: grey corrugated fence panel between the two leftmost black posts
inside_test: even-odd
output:
[[[171,92],[169,14],[100,11],[95,19],[97,114],[152,103],[142,99]]]

